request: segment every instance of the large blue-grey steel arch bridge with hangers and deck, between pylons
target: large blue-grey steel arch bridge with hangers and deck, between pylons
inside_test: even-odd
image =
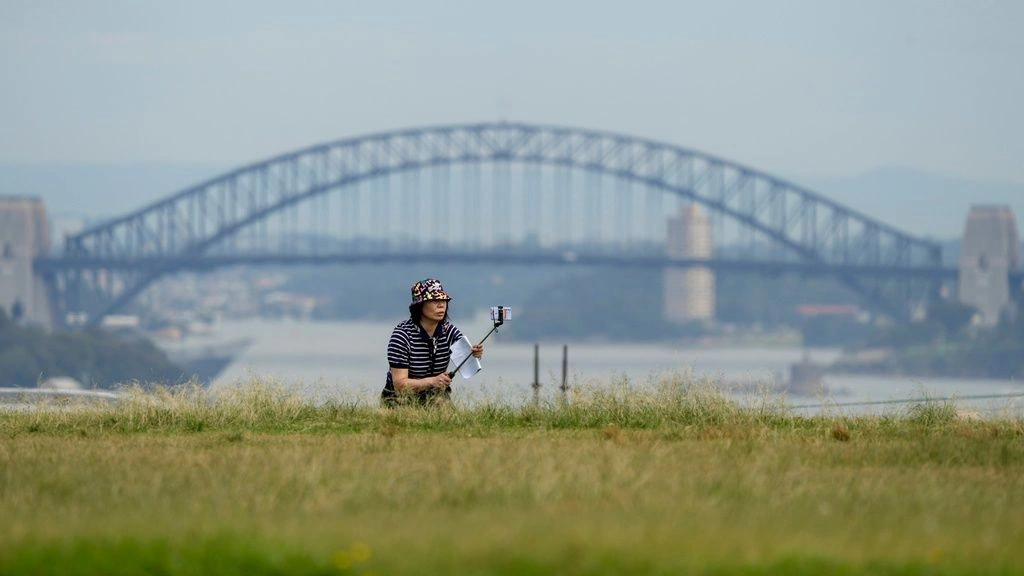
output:
[[[522,172],[513,176],[512,167]],[[453,169],[462,170],[461,186]],[[428,173],[432,192],[423,184]],[[548,176],[553,193],[541,186]],[[396,178],[397,193],[387,184]],[[666,218],[688,203],[743,248],[732,258],[666,256]],[[341,235],[325,232],[330,214]],[[37,268],[58,318],[85,312],[94,324],[182,271],[410,259],[827,274],[896,317],[922,286],[934,293],[949,275],[938,244],[735,162],[625,134],[521,123],[404,129],[283,154],[69,237],[62,254]]]

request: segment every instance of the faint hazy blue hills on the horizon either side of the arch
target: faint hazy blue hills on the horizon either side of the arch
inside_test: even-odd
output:
[[[40,196],[51,214],[94,220],[141,208],[230,168],[213,164],[0,164],[0,195]],[[972,204],[1007,204],[1024,218],[1024,183],[946,178],[907,168],[880,168],[851,177],[790,179],[898,229],[939,240],[963,234]]]

